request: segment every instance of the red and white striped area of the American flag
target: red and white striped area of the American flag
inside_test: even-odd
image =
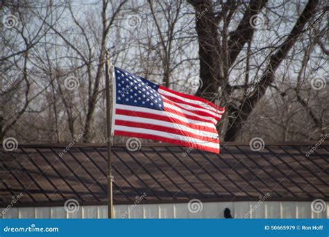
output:
[[[115,103],[112,132],[219,153],[216,124],[224,112],[208,100],[158,88],[164,110]]]

